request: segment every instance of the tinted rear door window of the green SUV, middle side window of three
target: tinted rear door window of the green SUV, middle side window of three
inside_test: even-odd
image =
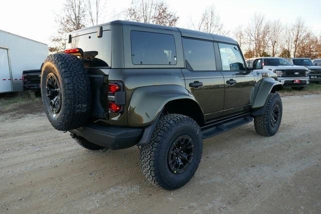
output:
[[[184,38],[183,45],[185,60],[193,71],[216,70],[212,42]]]

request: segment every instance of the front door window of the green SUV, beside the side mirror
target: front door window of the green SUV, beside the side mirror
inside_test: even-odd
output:
[[[245,70],[244,61],[236,45],[219,43],[223,71]]]

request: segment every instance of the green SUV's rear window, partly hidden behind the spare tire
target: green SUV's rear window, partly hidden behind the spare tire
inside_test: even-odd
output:
[[[69,47],[68,47],[69,46]],[[103,31],[102,37],[97,33],[85,34],[72,38],[66,48],[81,48],[84,52],[97,51],[98,55],[90,63],[90,67],[111,67],[111,31]]]

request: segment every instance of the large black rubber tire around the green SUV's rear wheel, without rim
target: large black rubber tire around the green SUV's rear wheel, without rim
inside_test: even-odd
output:
[[[174,173],[168,163],[172,143],[182,135],[194,143],[193,159],[185,171]],[[162,116],[152,133],[150,143],[141,146],[141,170],[148,181],[168,190],[180,188],[195,174],[201,161],[203,139],[199,125],[190,117],[180,114]]]

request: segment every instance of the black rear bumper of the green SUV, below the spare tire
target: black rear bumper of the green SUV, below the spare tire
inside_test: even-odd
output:
[[[103,126],[94,123],[70,130],[94,144],[109,149],[124,149],[134,146],[143,134],[143,128]]]

